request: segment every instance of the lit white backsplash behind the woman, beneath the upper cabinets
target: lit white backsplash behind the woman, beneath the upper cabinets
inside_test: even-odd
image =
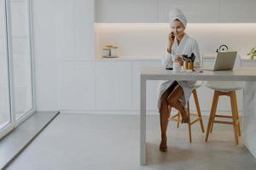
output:
[[[108,44],[119,47],[120,56],[161,56],[170,31],[167,23],[95,24],[96,56]],[[237,50],[242,58],[256,46],[256,24],[188,24],[186,32],[194,37],[204,55],[216,54],[221,44]]]

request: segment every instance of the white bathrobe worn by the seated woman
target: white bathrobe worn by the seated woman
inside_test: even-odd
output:
[[[162,64],[165,67],[172,67],[172,61],[175,60],[177,55],[191,55],[195,54],[195,67],[199,67],[201,63],[201,54],[199,50],[198,43],[192,37],[189,37],[187,34],[184,34],[181,42],[177,44],[177,38],[174,39],[174,44],[172,46],[172,53],[169,54],[165,49],[165,53],[162,59]],[[166,89],[169,88],[175,80],[161,82],[158,88],[159,96],[158,96],[158,109],[160,109],[160,97],[162,94],[166,92]],[[185,106],[187,101],[189,100],[190,95],[195,87],[195,81],[177,81],[178,84],[183,88],[183,96],[180,99],[182,104]]]

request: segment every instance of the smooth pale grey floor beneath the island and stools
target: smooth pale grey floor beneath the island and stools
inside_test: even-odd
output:
[[[207,117],[205,118],[207,127]],[[101,169],[255,169],[256,160],[236,146],[230,126],[216,125],[209,143],[199,125],[168,131],[168,152],[161,153],[159,116],[147,119],[147,166],[139,166],[139,116],[61,114],[9,165],[8,170]]]

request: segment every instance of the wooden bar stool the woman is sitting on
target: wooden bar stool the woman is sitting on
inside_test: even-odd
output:
[[[202,84],[202,82],[201,82]],[[196,88],[199,88],[201,85],[199,85],[198,87]],[[201,125],[201,132],[202,133],[205,133],[205,129],[204,129],[204,124],[202,122],[202,116],[201,116],[201,110],[200,110],[200,105],[199,105],[199,101],[198,101],[198,97],[197,97],[197,93],[196,93],[196,88],[194,88],[193,90],[193,96],[194,96],[194,100],[195,100],[195,107],[196,107],[196,113],[190,113],[190,108],[189,108],[189,101],[188,101],[188,116],[189,116],[189,123],[188,123],[188,126],[189,126],[189,142],[191,143],[192,142],[192,135],[191,135],[191,126],[195,123],[195,122],[200,122],[200,125]],[[196,116],[197,118],[193,121],[190,120],[190,116]],[[169,118],[169,121],[175,121],[177,122],[177,128],[179,127],[179,123],[182,122],[182,119],[181,119],[181,114],[180,112],[178,111],[178,113],[174,116],[171,116]]]

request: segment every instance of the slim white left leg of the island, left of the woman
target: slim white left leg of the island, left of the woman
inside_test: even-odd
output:
[[[146,164],[146,79],[141,77],[140,163]]]

